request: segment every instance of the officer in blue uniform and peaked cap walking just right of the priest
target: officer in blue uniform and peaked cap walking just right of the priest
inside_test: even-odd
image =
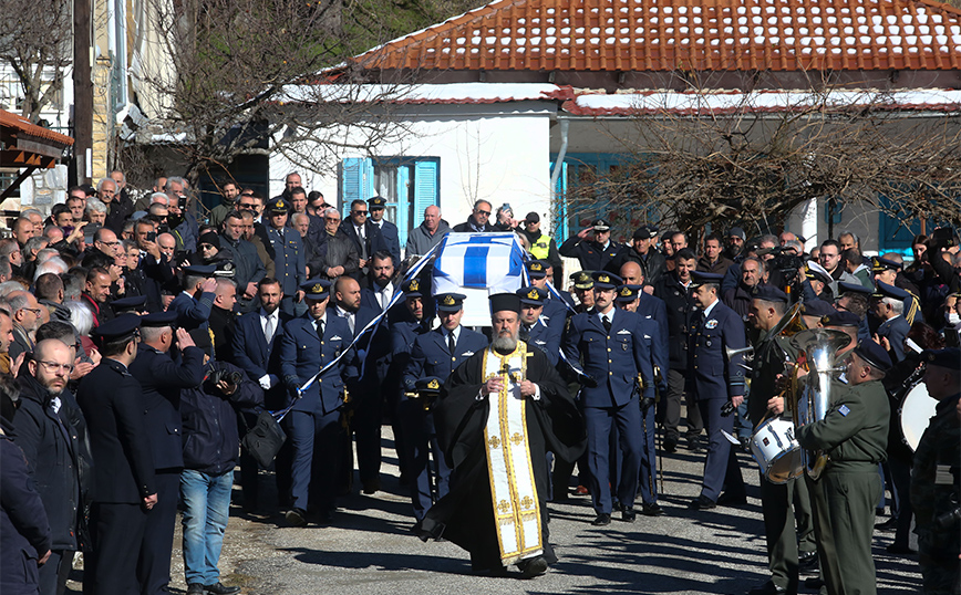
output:
[[[612,424],[623,452],[623,473],[617,486],[622,519],[633,522],[637,518],[633,503],[643,442],[640,393],[653,387],[653,369],[650,351],[640,338],[644,334],[641,317],[614,309],[622,280],[604,271],[595,272],[593,280],[595,306],[570,320],[564,352],[568,361],[582,362],[590,378],[580,403],[587,421],[590,493],[597,513],[592,524],[602,526],[610,524],[613,509],[608,463]]]

